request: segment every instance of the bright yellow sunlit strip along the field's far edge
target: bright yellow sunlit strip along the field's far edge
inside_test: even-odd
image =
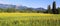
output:
[[[52,16],[53,14],[43,13],[0,13],[0,16]]]

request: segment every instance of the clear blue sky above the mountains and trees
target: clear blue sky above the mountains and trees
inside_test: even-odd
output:
[[[57,7],[60,7],[60,0],[0,0],[2,4],[23,5],[27,7],[43,7],[47,8],[48,5],[52,5],[53,1],[56,1]]]

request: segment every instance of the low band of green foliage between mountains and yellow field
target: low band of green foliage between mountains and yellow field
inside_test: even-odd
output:
[[[15,9],[15,8],[0,8],[0,12],[8,12],[8,13],[15,13],[15,12],[20,12],[20,13],[37,13],[37,10],[33,10],[33,8],[26,8],[26,9]],[[41,13],[43,11],[39,11]]]

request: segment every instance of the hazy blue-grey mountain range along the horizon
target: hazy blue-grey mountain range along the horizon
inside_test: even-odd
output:
[[[24,10],[24,9],[27,9],[29,7],[26,7],[26,6],[17,6],[17,5],[9,5],[9,4],[0,4],[0,8],[16,8],[18,10]],[[33,10],[37,10],[37,11],[45,11],[46,9],[44,8],[32,8]]]

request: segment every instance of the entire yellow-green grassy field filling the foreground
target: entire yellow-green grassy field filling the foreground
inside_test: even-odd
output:
[[[60,26],[60,14],[0,13],[0,26]]]

